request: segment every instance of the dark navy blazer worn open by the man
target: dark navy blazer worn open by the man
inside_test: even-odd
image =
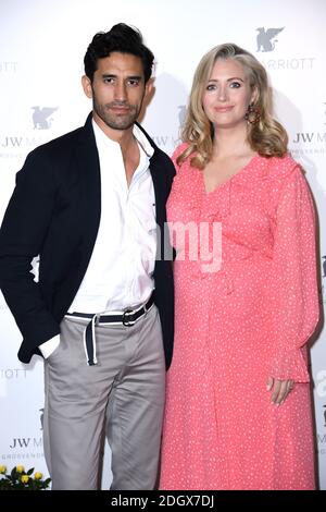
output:
[[[60,322],[85,276],[101,215],[100,163],[89,114],[85,126],[33,150],[16,175],[16,186],[0,230],[0,288],[23,334],[18,358],[29,363],[38,346],[60,333]],[[141,129],[141,126],[139,126]],[[150,159],[158,230],[154,267],[166,367],[174,333],[172,264],[164,260],[165,204],[175,174],[171,159],[141,129],[154,148]],[[30,273],[40,255],[39,282]]]

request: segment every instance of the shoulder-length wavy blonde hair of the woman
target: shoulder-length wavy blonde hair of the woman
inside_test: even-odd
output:
[[[202,97],[217,59],[238,61],[249,78],[252,89],[256,90],[253,107],[260,112],[256,124],[248,123],[250,147],[264,157],[283,157],[287,153],[288,136],[283,125],[272,115],[272,93],[264,66],[247,50],[228,42],[212,48],[201,59],[192,82],[181,139],[189,146],[177,157],[177,163],[190,155],[191,166],[203,169],[213,153],[214,127],[202,107]]]

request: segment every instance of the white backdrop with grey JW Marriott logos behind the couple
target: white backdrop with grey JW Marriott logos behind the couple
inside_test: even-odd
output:
[[[263,62],[277,117],[313,191],[321,225],[321,304],[326,279],[325,0],[0,0],[0,220],[15,173],[34,147],[84,124],[91,105],[80,87],[93,34],[125,22],[156,57],[155,95],[145,127],[171,154],[192,74],[204,52],[233,41]],[[274,36],[268,29],[278,29]],[[324,264],[324,269],[323,269]],[[41,444],[42,362],[16,358],[20,332],[0,295],[0,464],[47,474]],[[326,489],[326,331],[312,349],[316,450]],[[262,425],[263,428],[263,425]],[[110,484],[106,447],[103,488]]]

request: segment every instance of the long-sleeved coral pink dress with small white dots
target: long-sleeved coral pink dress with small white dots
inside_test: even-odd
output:
[[[196,225],[202,241],[209,225],[217,252],[213,225],[222,227],[222,264],[208,271],[206,253],[195,257],[190,236],[172,235],[176,326],[160,488],[313,489],[305,349],[318,300],[305,179],[290,156],[255,156],[205,193],[190,158],[176,169],[168,221],[188,223],[192,234]],[[268,376],[296,381],[279,406]]]

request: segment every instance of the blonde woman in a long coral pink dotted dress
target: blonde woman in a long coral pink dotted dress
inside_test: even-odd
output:
[[[176,336],[162,489],[314,488],[314,212],[268,90],[234,44],[195,74],[167,204]]]

